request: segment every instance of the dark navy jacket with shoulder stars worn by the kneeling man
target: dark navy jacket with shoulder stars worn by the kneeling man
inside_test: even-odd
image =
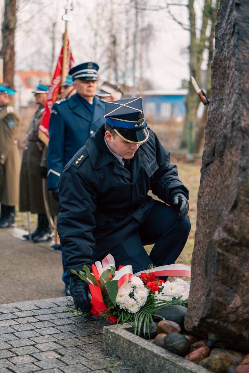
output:
[[[135,153],[132,175],[110,153],[104,133],[103,125],[60,177],[58,233],[68,268],[91,266],[138,230],[154,205],[149,189],[168,204],[176,192],[188,198],[153,131]]]

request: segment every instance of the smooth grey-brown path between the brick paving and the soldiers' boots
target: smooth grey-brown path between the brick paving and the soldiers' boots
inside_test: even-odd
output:
[[[52,250],[51,242],[35,244],[21,240],[24,233],[19,228],[0,229],[0,304],[63,296],[61,252]],[[43,308],[57,305],[44,303]],[[60,306],[64,306],[64,303]],[[5,306],[2,313],[15,314],[38,309],[41,307],[23,303],[18,310]]]

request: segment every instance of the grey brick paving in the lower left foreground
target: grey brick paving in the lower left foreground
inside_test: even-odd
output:
[[[70,297],[0,305],[0,373],[139,373],[102,352],[106,321],[71,306]]]

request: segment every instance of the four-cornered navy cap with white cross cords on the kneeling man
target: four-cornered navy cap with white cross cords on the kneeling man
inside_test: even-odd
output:
[[[125,141],[142,144],[148,140],[141,97],[106,102],[104,118]]]

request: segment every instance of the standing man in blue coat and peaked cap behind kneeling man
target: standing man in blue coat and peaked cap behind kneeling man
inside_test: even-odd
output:
[[[104,122],[105,103],[95,97],[98,69],[94,62],[74,66],[69,74],[76,93],[69,99],[56,102],[51,110],[47,175],[48,189],[57,200],[59,176],[64,166]],[[64,265],[63,250],[62,261]],[[69,276],[65,270],[62,280],[66,286],[65,294],[69,295]]]

